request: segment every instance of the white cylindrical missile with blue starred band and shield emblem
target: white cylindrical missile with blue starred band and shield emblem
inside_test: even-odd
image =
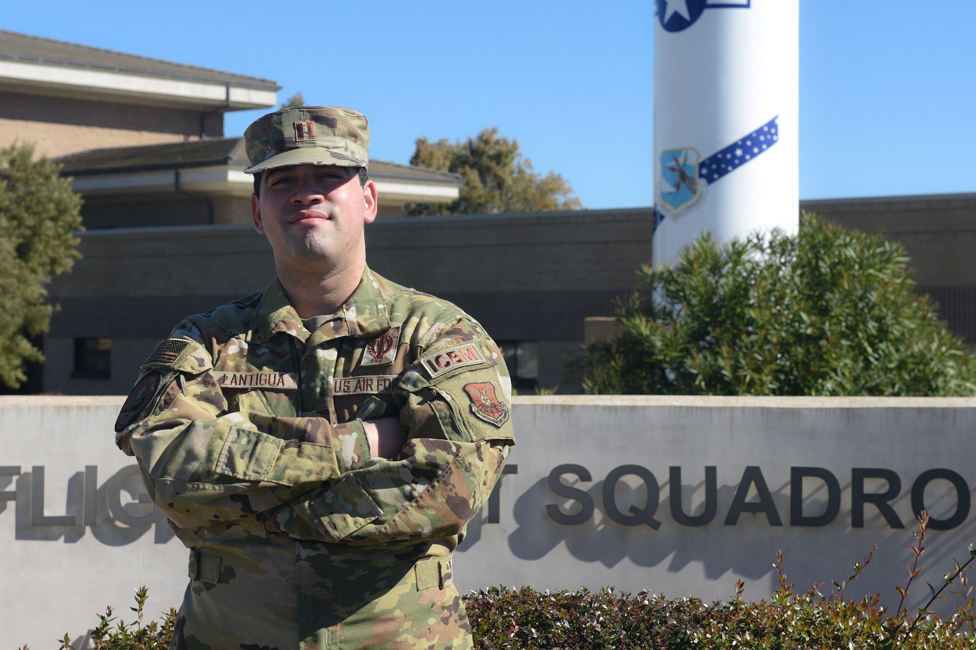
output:
[[[654,263],[706,230],[795,231],[798,0],[656,7]]]

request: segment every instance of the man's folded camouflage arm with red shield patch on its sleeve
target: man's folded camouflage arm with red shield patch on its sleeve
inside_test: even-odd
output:
[[[481,351],[491,358],[489,349]],[[485,361],[429,377],[421,363],[394,391],[408,430],[401,454],[371,459],[278,508],[278,530],[349,545],[442,539],[464,530],[514,443],[501,388],[508,372],[503,363]]]

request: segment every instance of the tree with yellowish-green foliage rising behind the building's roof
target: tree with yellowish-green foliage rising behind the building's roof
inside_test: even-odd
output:
[[[555,172],[540,176],[532,161],[522,158],[517,140],[499,136],[498,127],[485,129],[466,142],[417,140],[411,165],[455,172],[465,180],[453,203],[407,205],[411,216],[474,215],[541,210],[580,210],[573,188]]]

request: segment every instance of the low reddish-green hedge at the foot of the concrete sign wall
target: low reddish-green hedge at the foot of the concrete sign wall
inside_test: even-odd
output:
[[[475,647],[480,650],[739,650],[740,648],[871,648],[874,650],[961,650],[976,645],[976,597],[967,573],[976,559],[969,547],[969,560],[955,564],[943,585],[928,585],[931,599],[915,615],[903,608],[905,596],[918,576],[918,557],[928,528],[928,515],[918,519],[916,543],[910,545],[915,564],[909,569],[905,588],[892,615],[881,607],[875,593],[860,599],[844,599],[842,590],[857,580],[868,566],[874,550],[853,573],[837,583],[830,594],[823,584],[796,594],[783,570],[783,554],[777,553],[773,567],[780,586],[769,600],[746,603],[744,583],[735,586],[735,598],[707,604],[699,598],[668,600],[663,594],[641,591],[636,595],[617,593],[613,588],[590,591],[537,591],[504,587],[472,591],[464,596]],[[938,598],[957,597],[956,614],[942,618],[929,611]],[[163,650],[169,645],[176,620],[171,609],[161,623],[142,625],[145,588],[136,593],[138,618],[131,625],[118,622],[111,608],[100,617],[90,634],[98,650]],[[71,648],[67,634],[62,650]],[[24,647],[22,650],[26,650]]]

